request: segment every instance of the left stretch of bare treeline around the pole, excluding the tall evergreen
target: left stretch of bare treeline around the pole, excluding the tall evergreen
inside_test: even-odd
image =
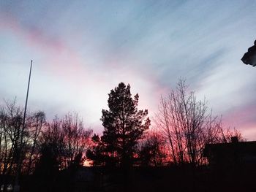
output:
[[[47,122],[44,112],[32,112],[23,126],[23,109],[15,101],[6,103],[0,109],[2,190],[7,191],[18,174],[50,179],[54,172],[83,164],[91,133],[75,113]]]

